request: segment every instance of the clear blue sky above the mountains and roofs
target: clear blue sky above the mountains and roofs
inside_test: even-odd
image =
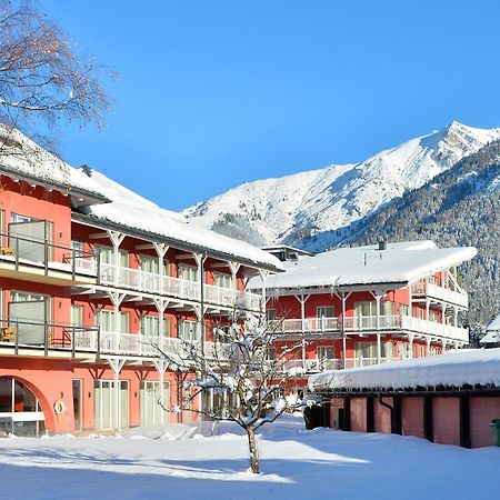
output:
[[[457,119],[500,127],[500,2],[41,0],[121,81],[61,152],[179,210],[354,162]]]

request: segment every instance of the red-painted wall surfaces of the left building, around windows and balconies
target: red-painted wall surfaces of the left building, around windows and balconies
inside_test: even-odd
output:
[[[2,194],[0,197],[0,211],[2,213],[3,227],[1,232],[7,232],[8,222],[11,213],[19,213],[36,219],[48,220],[52,222],[53,243],[64,247],[64,249],[54,250],[56,260],[61,260],[62,254],[68,254],[71,248],[71,240],[80,240],[83,242],[83,250],[92,252],[97,244],[106,244],[111,247],[108,238],[101,238],[104,232],[100,228],[94,228],[71,221],[70,197],[63,196],[56,190],[49,191],[39,186],[32,187],[26,182],[14,182],[9,178],[1,177]],[[138,246],[144,246],[147,241],[130,236],[126,237],[120,248],[129,252],[127,264],[131,269],[139,269],[142,254],[157,258],[153,249],[140,249]],[[194,264],[194,260],[186,259],[187,252],[176,248],[170,248],[166,254],[169,261],[168,273],[172,277],[177,276],[177,264],[179,262]],[[217,264],[217,266],[216,266]],[[230,274],[228,267],[220,267],[221,262],[213,258],[208,258],[204,264],[204,281],[208,284],[214,283],[214,272],[226,272]],[[247,270],[248,271],[248,270]],[[237,274],[237,289],[243,290],[246,283],[246,269],[241,268]],[[253,271],[252,271],[253,272]],[[113,310],[110,300],[106,298],[106,293],[100,296],[92,294],[74,294],[71,296],[70,286],[53,286],[41,282],[32,282],[30,279],[23,278],[7,279],[0,278],[1,291],[1,312],[4,322],[8,318],[8,304],[11,300],[11,291],[26,291],[37,294],[51,297],[50,320],[54,324],[69,326],[71,322],[71,304],[83,307],[83,327],[93,327],[96,324],[96,310],[98,308]],[[83,290],[83,289],[82,289]],[[119,308],[120,311],[129,312],[128,332],[140,332],[140,318],[148,313],[158,316],[158,311],[153,306],[141,304],[140,301],[126,301]],[[197,320],[192,310],[187,307],[186,310],[167,309],[166,317],[170,319],[170,331],[168,337],[177,337],[177,323],[179,319]],[[192,309],[192,308],[191,308]],[[213,340],[212,330],[216,324],[228,324],[228,314],[211,316],[207,318],[207,340]],[[56,331],[56,328],[53,329]],[[60,327],[60,331],[63,329]],[[56,333],[51,333],[56,334]],[[11,348],[11,346],[8,346]],[[96,380],[113,380],[114,373],[110,366],[104,361],[91,363],[89,361],[71,360],[70,350],[66,351],[63,358],[56,359],[53,357],[43,357],[43,348],[37,347],[27,350],[28,356],[19,354],[16,357],[2,356],[0,350],[0,378],[14,378],[26,384],[38,398],[46,419],[46,428],[49,432],[72,432],[74,431],[74,408],[72,398],[72,380],[81,381],[82,393],[82,413],[81,422],[83,429],[94,428],[94,396]],[[51,356],[57,356],[51,353]],[[187,391],[183,389],[182,382],[184,374],[178,374],[168,371],[164,374],[164,382],[170,388],[170,407],[180,402]],[[142,381],[159,381],[160,374],[149,360],[149,364],[126,364],[119,373],[119,380],[128,381],[129,387],[129,426],[140,424],[140,387]],[[180,388],[180,389],[179,389]],[[56,414],[54,403],[62,402],[63,411]],[[199,398],[194,398],[191,407],[198,408]],[[166,422],[191,421],[196,420],[190,412],[166,414]]]

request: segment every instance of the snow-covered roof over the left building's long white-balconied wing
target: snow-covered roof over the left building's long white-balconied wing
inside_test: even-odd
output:
[[[188,220],[180,213],[160,208],[146,198],[114,182],[103,173],[86,168],[84,172],[99,186],[111,203],[84,207],[83,213],[102,222],[111,222],[142,233],[164,238],[200,251],[217,252],[237,261],[264,267],[273,271],[283,269],[270,253],[243,241],[219,234]]]

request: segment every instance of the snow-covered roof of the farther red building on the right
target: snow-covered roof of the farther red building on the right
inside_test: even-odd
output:
[[[432,241],[339,248],[297,262],[284,262],[287,272],[268,278],[268,289],[336,288],[372,283],[409,283],[432,272],[472,259],[476,248],[437,248]],[[259,288],[253,279],[250,288]]]

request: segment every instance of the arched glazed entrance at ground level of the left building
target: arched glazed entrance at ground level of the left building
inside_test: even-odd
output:
[[[44,420],[38,398],[24,383],[0,378],[0,436],[40,436]]]

